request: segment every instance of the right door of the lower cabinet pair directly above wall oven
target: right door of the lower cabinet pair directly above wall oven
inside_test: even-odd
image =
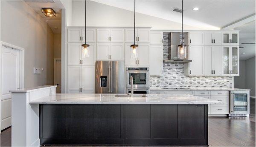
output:
[[[140,43],[138,47],[138,65],[149,66],[149,44]]]

